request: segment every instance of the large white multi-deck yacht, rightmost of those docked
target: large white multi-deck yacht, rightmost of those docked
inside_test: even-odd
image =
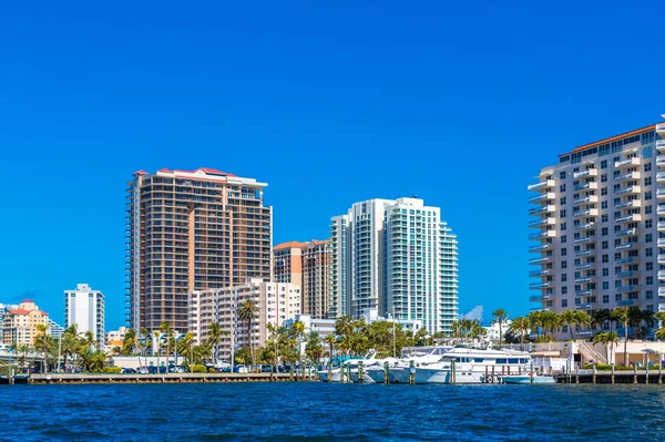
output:
[[[436,362],[417,363],[415,382],[488,383],[492,374],[498,382],[502,376],[528,373],[530,363],[528,352],[456,347]],[[408,368],[406,371],[409,374]]]

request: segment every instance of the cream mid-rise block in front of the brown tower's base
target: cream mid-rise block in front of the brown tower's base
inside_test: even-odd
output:
[[[248,300],[256,308],[250,326],[252,345],[256,348],[266,343],[268,325],[282,327],[300,313],[300,286],[252,278],[234,287],[191,292],[188,329],[194,342],[205,342],[209,325],[216,322],[229,332],[222,337],[219,359],[228,360],[232,348],[249,347],[247,322],[238,319],[238,309]]]

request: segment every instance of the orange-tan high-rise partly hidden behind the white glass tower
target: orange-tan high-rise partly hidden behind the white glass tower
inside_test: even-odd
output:
[[[326,240],[290,241],[275,246],[275,281],[303,287],[303,315],[328,316],[328,254]]]

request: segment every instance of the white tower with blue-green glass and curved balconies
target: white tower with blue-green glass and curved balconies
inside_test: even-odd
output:
[[[334,217],[330,312],[372,310],[450,331],[458,316],[458,243],[440,212],[418,198],[370,199]]]

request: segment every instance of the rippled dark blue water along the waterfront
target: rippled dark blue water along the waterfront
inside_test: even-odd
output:
[[[665,384],[0,386],[2,441],[656,441]]]

